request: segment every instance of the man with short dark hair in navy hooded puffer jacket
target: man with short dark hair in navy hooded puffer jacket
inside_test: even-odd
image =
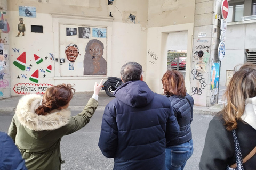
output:
[[[155,94],[142,81],[142,66],[126,63],[124,84],[106,106],[99,147],[114,158],[114,169],[164,170],[165,146],[178,142],[179,125],[167,97]]]

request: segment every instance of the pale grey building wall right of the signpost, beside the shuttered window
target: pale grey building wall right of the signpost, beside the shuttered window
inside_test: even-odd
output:
[[[245,50],[256,50],[256,21],[231,22],[227,25],[226,54],[221,61],[220,86],[226,86],[226,72],[244,64]]]

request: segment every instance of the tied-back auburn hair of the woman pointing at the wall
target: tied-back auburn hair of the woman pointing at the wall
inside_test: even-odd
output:
[[[42,105],[35,112],[38,115],[46,115],[54,109],[61,109],[69,103],[75,91],[71,84],[61,84],[48,88],[43,96]]]

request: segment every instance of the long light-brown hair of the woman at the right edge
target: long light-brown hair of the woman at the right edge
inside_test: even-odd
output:
[[[237,70],[237,67],[234,70]],[[245,100],[254,96],[256,96],[256,65],[245,63],[234,73],[224,93],[227,105],[221,114],[227,130],[231,131],[237,128],[236,121],[244,113]]]

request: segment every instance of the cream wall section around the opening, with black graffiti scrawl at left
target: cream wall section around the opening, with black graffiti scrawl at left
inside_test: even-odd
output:
[[[180,31],[187,32],[186,88],[189,92],[190,62],[193,36],[195,1],[148,1],[147,32],[147,78],[149,87],[162,93],[161,78],[167,70],[168,35]],[[177,44],[184,42],[180,40]]]

